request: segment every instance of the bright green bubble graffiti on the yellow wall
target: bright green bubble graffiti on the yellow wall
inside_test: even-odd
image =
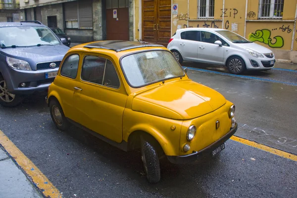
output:
[[[275,36],[273,39],[275,42],[272,42],[270,38],[271,32],[270,30],[263,29],[263,30],[256,30],[255,33],[250,33],[248,35],[248,39],[250,41],[258,41],[264,44],[267,44],[271,48],[282,48],[284,46],[284,39],[281,36]]]

